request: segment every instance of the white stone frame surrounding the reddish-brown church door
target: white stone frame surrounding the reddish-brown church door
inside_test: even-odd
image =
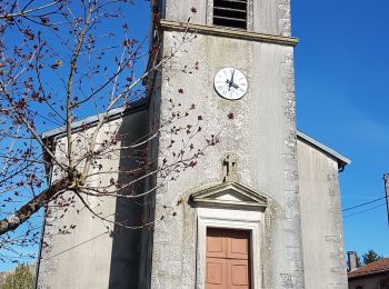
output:
[[[262,211],[197,208],[198,216],[198,248],[197,248],[197,280],[196,288],[205,289],[206,280],[206,241],[207,228],[226,228],[249,230],[251,237],[251,288],[262,286],[261,239],[263,236]]]

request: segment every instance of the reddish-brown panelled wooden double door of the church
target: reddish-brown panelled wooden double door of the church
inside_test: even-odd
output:
[[[250,231],[207,229],[206,289],[250,289]]]

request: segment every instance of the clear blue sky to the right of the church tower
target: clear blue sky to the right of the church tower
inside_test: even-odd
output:
[[[340,175],[342,208],[385,196],[389,172],[389,2],[292,1],[297,122],[352,160]],[[357,213],[366,209],[380,207]],[[343,213],[346,250],[389,257],[385,200]]]

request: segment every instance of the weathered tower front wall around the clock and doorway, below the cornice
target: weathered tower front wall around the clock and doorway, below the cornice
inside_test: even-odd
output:
[[[166,52],[177,46],[179,37],[178,32],[164,32]],[[193,169],[157,193],[151,288],[193,288],[197,216],[188,197],[221,181],[222,160],[230,152],[237,156],[239,181],[270,196],[261,253],[266,278],[256,288],[303,288],[293,48],[198,33],[183,50],[161,74],[161,120],[169,117],[170,99],[182,107],[193,103],[191,123],[197,123],[198,114],[202,118],[201,133],[192,140],[194,147],[203,146],[210,134],[218,136],[220,143],[207,149]],[[184,66],[194,63],[198,69],[193,73],[182,72]],[[225,67],[247,76],[249,91],[242,99],[230,101],[215,92],[215,73]],[[180,138],[161,133],[160,149]],[[183,200],[181,206],[177,206],[179,200]],[[176,208],[174,215],[167,215],[166,208]]]

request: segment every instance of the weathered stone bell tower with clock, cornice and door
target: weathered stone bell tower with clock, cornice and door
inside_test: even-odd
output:
[[[194,37],[156,77],[152,117],[167,120],[171,101],[194,104],[192,123],[200,119],[202,136],[215,134],[219,143],[158,189],[142,288],[305,288],[293,79],[298,41],[290,36],[289,0],[153,4],[161,13],[164,53],[177,48],[182,33]],[[188,68],[192,73],[182,72]],[[162,131],[154,146],[168,151],[174,136]],[[201,136],[192,141],[202,148]]]

